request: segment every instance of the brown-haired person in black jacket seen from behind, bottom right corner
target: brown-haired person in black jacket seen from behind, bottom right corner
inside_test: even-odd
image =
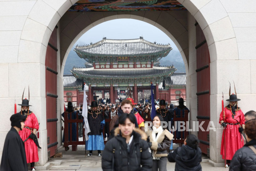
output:
[[[234,154],[230,171],[256,170],[256,120],[250,120],[245,124],[247,143]]]

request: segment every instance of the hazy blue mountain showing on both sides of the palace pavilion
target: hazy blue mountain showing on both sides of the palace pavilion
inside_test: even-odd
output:
[[[85,62],[86,61],[81,59],[74,50],[71,50],[65,63],[64,75],[71,74],[70,70],[72,70],[74,66],[84,67]],[[176,73],[186,72],[184,62],[179,51],[171,50],[171,52],[159,62],[162,66],[174,65],[174,67],[177,69],[177,71],[175,71]]]

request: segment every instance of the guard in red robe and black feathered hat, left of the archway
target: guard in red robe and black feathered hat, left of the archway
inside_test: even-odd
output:
[[[36,131],[39,129],[39,124],[35,114],[29,110],[29,106],[31,105],[29,105],[29,101],[27,99],[22,100],[22,104],[19,105],[21,105],[21,111],[19,113],[22,115],[27,115],[24,129],[19,131],[19,136],[21,137],[22,141],[25,141],[31,133],[36,134]],[[39,161],[37,145],[31,138],[28,138],[27,141],[24,142],[24,145],[27,163],[30,163],[31,170],[35,170],[35,162]]]

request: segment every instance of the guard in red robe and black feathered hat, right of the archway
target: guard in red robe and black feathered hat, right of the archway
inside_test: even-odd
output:
[[[230,92],[230,91],[229,91]],[[220,114],[220,124],[225,129],[225,140],[226,140],[226,160],[227,167],[230,165],[230,160],[232,160],[235,152],[242,148],[244,145],[244,140],[242,137],[242,131],[245,127],[245,117],[242,110],[238,107],[236,94],[232,94],[229,96],[229,105],[224,108],[225,111],[225,119],[223,119],[223,113]],[[224,152],[224,131],[222,134],[221,140],[221,155],[222,159],[225,159]]]

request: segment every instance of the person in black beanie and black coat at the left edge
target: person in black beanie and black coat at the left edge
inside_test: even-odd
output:
[[[5,138],[0,170],[27,171],[24,142],[19,136],[19,131],[23,130],[26,118],[26,115],[19,113],[10,117],[12,127]]]

